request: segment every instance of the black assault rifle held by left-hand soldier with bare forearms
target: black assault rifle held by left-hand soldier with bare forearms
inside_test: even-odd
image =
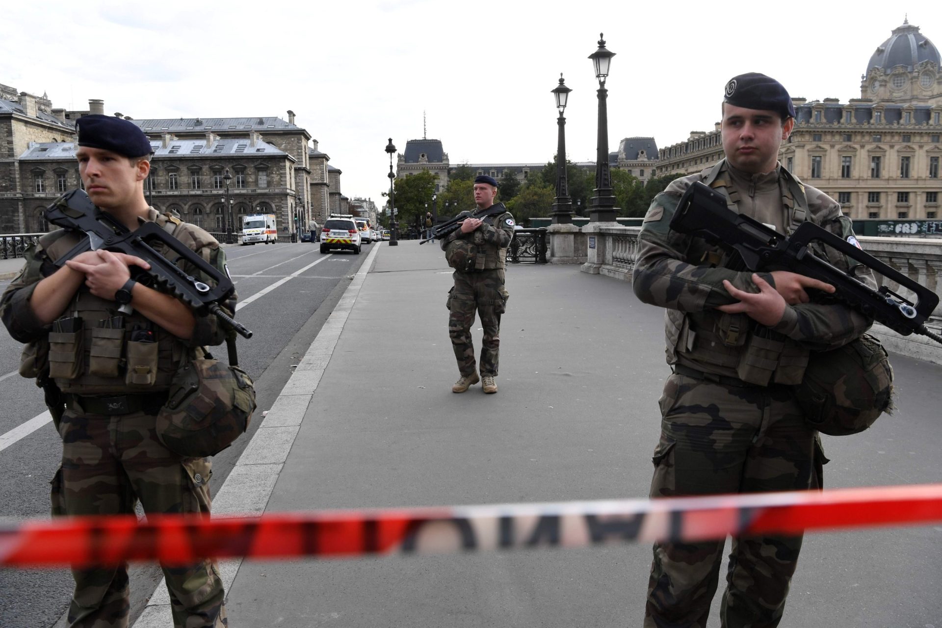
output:
[[[143,278],[138,281],[145,284],[155,283],[168,294],[186,303],[196,314],[214,314],[227,328],[235,330],[244,338],[252,338],[252,331],[247,330],[219,307],[219,303],[235,291],[228,270],[225,273],[219,272],[219,269],[208,264],[156,223],[145,222],[130,231],[114,217],[96,207],[89,195],[80,189],[60,196],[46,208],[45,217],[54,225],[86,235],[72,250],[57,259],[56,266],[65,265],[68,260],[87,250],[103,249],[135,255],[151,265],[150,270],[131,266],[131,274],[135,279]],[[169,260],[154,250],[152,245],[157,242],[173,251],[176,259]],[[181,259],[199,268],[216,282],[216,286],[210,287],[176,266]]]

